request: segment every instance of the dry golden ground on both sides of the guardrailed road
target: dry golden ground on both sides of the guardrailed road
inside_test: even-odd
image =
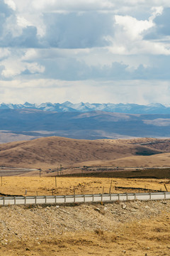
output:
[[[1,180],[0,180],[1,181]],[[170,190],[168,179],[6,176],[0,192],[11,195]],[[116,188],[116,187],[124,188]],[[129,188],[131,187],[131,189]],[[0,208],[3,256],[168,256],[170,202],[127,202],[74,207]]]

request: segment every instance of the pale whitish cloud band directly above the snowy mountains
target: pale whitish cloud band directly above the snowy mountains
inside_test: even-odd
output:
[[[129,81],[64,81],[13,80],[0,81],[0,102],[114,102],[169,104],[170,82],[162,80]],[[134,97],[135,95],[135,97]]]

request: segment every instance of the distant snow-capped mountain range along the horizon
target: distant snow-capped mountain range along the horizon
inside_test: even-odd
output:
[[[166,107],[159,103],[149,105],[137,105],[137,104],[113,104],[113,103],[42,103],[31,104],[0,104],[0,110],[21,110],[21,109],[34,109],[44,111],[55,112],[91,112],[91,111],[104,111],[104,112],[119,112],[127,114],[170,114],[170,107]]]

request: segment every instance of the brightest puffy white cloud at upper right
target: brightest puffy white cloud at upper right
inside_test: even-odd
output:
[[[143,39],[144,32],[156,26],[154,18],[161,15],[162,11],[162,6],[153,8],[148,20],[115,15],[115,35],[114,37],[107,37],[107,40],[111,42],[111,46],[108,47],[111,53],[120,55],[170,55],[169,43]]]

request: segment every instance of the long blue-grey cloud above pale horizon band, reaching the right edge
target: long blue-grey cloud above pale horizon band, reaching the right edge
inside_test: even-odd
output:
[[[87,65],[76,58],[44,59],[40,65],[45,67],[41,78],[57,80],[169,80],[169,56],[152,56],[152,66],[139,65],[129,69],[128,65],[113,62],[112,65]]]

